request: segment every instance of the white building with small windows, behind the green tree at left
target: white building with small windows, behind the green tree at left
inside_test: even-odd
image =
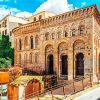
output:
[[[26,23],[28,23],[27,20],[11,14],[8,14],[0,20],[0,34],[9,36],[12,48],[14,47],[14,36],[12,34],[12,29]]]

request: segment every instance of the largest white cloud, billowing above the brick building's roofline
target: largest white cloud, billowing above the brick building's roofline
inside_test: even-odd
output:
[[[69,4],[67,0],[47,0],[36,9],[35,13],[49,11],[55,14],[59,14],[70,11],[73,8],[73,4]]]

